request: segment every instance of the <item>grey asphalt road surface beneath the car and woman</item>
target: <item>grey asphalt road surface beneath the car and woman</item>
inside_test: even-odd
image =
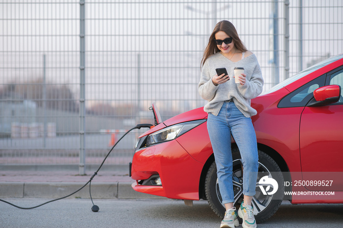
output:
[[[20,206],[34,206],[44,199],[5,199]],[[1,227],[137,227],[137,228],[219,228],[217,217],[206,201],[186,206],[179,200],[94,200],[64,199],[41,207],[22,210],[0,202]],[[291,205],[284,201],[276,214],[259,228],[331,228],[343,224],[343,204]],[[242,225],[239,227],[241,228]]]

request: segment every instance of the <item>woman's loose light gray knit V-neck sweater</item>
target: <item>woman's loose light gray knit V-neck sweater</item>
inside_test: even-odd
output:
[[[215,86],[212,77],[215,76],[216,68],[226,68],[230,80]],[[234,72],[235,67],[244,67],[246,74],[246,83],[244,86],[235,84]],[[257,97],[263,89],[263,77],[260,65],[257,62],[255,54],[249,55],[238,62],[232,62],[217,52],[211,55],[204,63],[201,69],[200,82],[198,90],[200,96],[207,100],[204,106],[206,113],[218,115],[224,101],[233,98],[237,108],[246,116],[256,115],[255,109],[250,106],[250,99]]]

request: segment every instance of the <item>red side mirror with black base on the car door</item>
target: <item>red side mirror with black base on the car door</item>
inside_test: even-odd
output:
[[[320,87],[313,91],[314,98],[310,100],[307,106],[324,106],[336,103],[341,97],[341,86],[331,85]]]

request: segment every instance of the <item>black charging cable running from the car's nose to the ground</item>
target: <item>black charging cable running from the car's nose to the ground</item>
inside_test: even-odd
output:
[[[101,165],[99,166],[98,170],[93,174],[93,176],[89,179],[89,181],[88,181],[87,183],[85,183],[82,187],[80,187],[78,190],[76,190],[76,191],[74,191],[73,193],[69,194],[68,196],[64,196],[64,197],[61,197],[61,198],[58,198],[58,199],[50,200],[50,201],[45,202],[45,203],[43,203],[43,204],[41,204],[41,205],[32,206],[32,207],[21,207],[21,206],[17,206],[17,205],[11,204],[11,203],[9,203],[9,202],[7,202],[7,201],[5,201],[5,200],[1,200],[1,199],[0,199],[0,201],[4,202],[4,203],[6,203],[6,204],[9,204],[9,205],[15,206],[15,207],[17,207],[17,208],[19,208],[19,209],[33,209],[33,208],[37,208],[37,207],[39,207],[39,206],[43,206],[43,205],[49,204],[49,203],[51,203],[51,202],[57,201],[57,200],[65,199],[65,198],[67,198],[67,197],[69,197],[69,196],[75,194],[76,192],[80,191],[82,188],[84,188],[85,186],[87,186],[87,184],[89,183],[89,195],[90,195],[90,197],[91,197],[91,201],[92,201],[92,204],[93,204],[93,206],[92,206],[92,211],[93,211],[93,212],[98,212],[98,211],[99,211],[99,207],[98,207],[97,205],[94,205],[93,199],[92,199],[92,194],[91,194],[91,182],[92,182],[93,178],[94,178],[95,176],[98,175],[98,171],[99,171],[100,168],[102,167],[103,163],[105,162],[105,160],[107,159],[107,157],[110,155],[110,153],[112,152],[112,150],[114,149],[114,147],[118,144],[118,142],[119,142],[120,140],[122,140],[123,137],[125,137],[130,131],[132,131],[132,130],[134,130],[134,129],[150,128],[151,126],[152,126],[152,124],[137,124],[135,127],[133,127],[133,128],[131,128],[130,130],[128,130],[128,131],[127,131],[127,132],[126,132],[126,133],[116,142],[116,144],[114,144],[114,146],[112,147],[112,149],[108,152],[108,154],[106,155],[106,157],[105,157],[104,160],[102,161],[102,163],[101,163]]]

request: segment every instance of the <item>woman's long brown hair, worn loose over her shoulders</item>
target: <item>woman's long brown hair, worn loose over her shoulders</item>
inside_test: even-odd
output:
[[[200,68],[204,65],[208,57],[220,51],[218,46],[216,45],[216,42],[214,41],[214,39],[216,38],[216,33],[219,31],[223,31],[228,36],[232,37],[232,40],[235,42],[235,46],[239,51],[247,51],[245,45],[238,36],[235,26],[229,21],[220,21],[216,24],[210,36],[210,39],[208,40],[208,45],[205,48]]]

